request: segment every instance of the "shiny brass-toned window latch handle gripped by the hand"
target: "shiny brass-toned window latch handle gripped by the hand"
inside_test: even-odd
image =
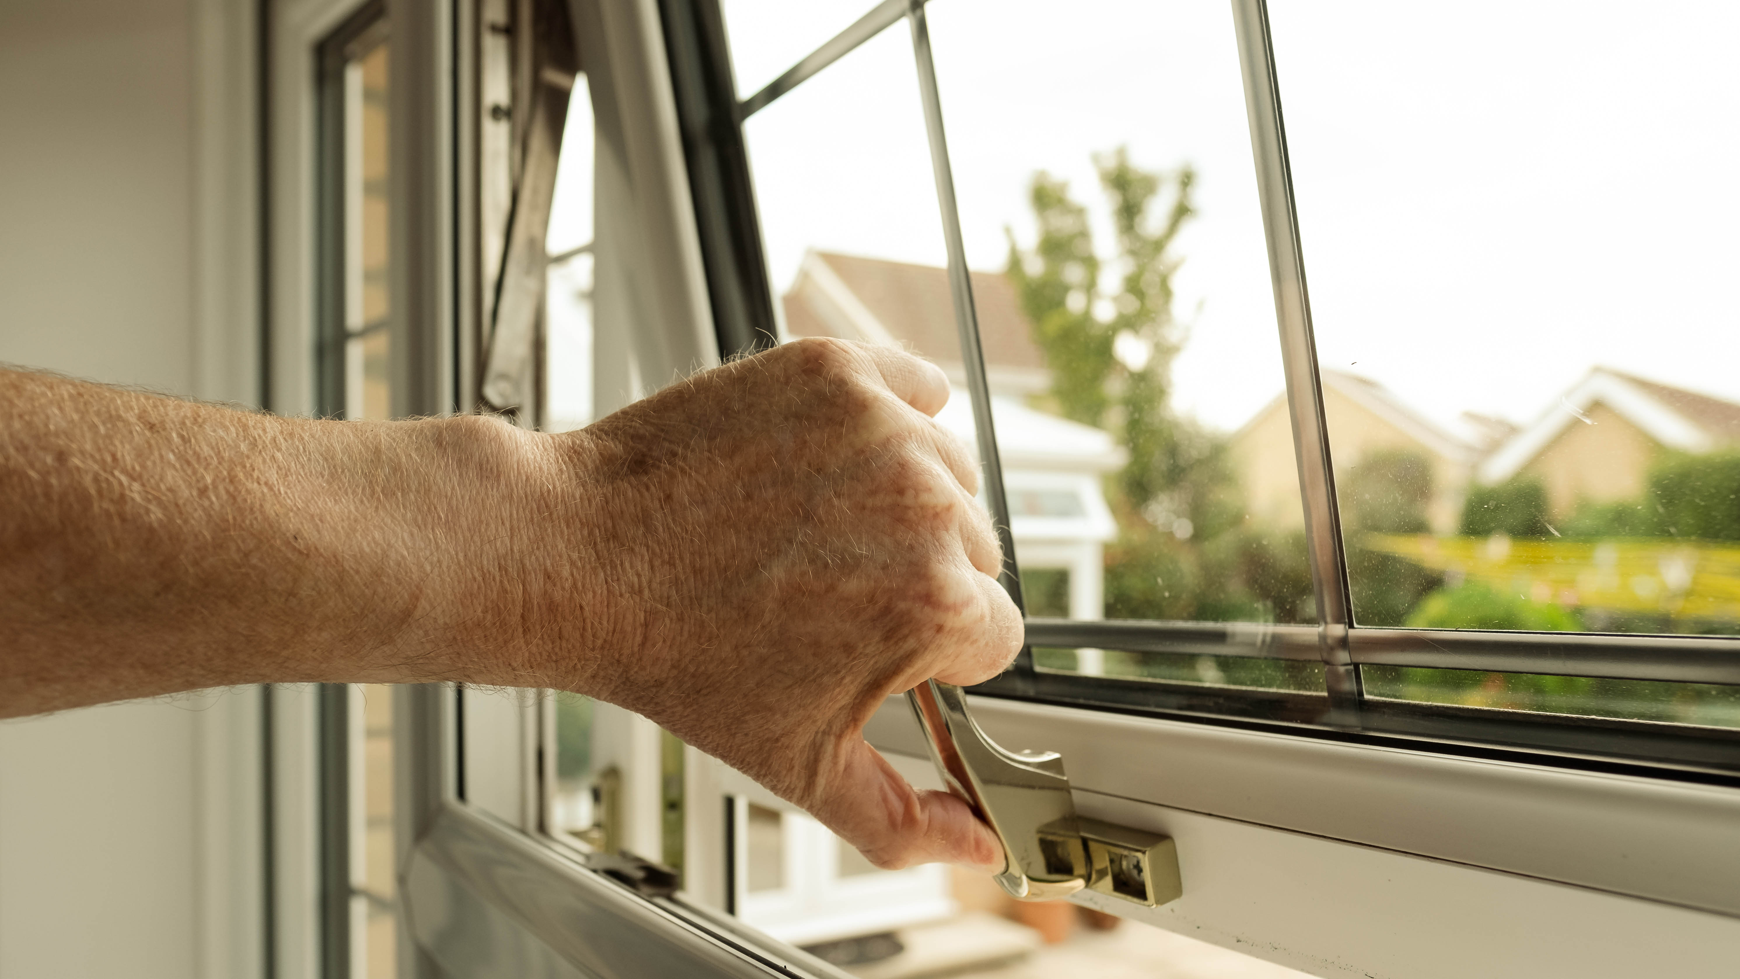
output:
[[[1009,896],[1056,901],[1086,887],[1152,908],[1183,892],[1169,836],[1075,814],[1061,755],[999,746],[952,683],[927,680],[907,699],[943,784],[1002,840],[995,880]]]

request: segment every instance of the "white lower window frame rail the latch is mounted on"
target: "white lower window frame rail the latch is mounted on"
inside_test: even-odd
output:
[[[1178,840],[1174,904],[1081,904],[1321,976],[1716,976],[1740,948],[1730,788],[971,703],[1061,751],[1084,816]],[[867,739],[940,788],[905,697]]]

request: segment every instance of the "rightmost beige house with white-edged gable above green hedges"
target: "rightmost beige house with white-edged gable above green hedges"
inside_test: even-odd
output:
[[[1585,501],[1641,496],[1663,450],[1702,454],[1731,445],[1740,445],[1740,405],[1596,367],[1493,450],[1479,480],[1536,478],[1547,489],[1549,513],[1563,518]]]

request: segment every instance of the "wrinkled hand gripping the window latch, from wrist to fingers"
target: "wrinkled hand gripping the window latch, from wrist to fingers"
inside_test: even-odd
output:
[[[872,862],[1000,866],[971,809],[863,741],[889,694],[1007,668],[1021,617],[931,417],[943,372],[807,339],[543,438],[524,636],[548,683],[633,709],[814,814]]]

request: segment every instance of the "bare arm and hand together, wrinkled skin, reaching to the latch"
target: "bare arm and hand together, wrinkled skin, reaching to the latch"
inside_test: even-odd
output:
[[[861,736],[1021,643],[934,365],[799,341],[578,433],[284,419],[0,370],[0,716],[238,683],[560,687],[879,866],[1000,866]]]

